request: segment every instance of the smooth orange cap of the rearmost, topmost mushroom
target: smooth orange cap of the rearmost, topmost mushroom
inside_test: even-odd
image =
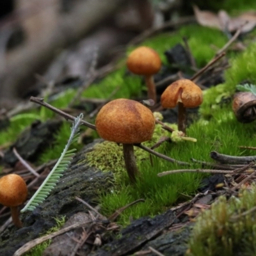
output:
[[[161,60],[156,51],[150,47],[136,48],[127,58],[127,68],[134,74],[150,76],[161,68]]]

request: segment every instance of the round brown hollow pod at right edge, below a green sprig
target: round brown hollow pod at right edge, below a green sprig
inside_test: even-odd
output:
[[[253,122],[256,119],[256,95],[250,92],[237,92],[234,95],[232,109],[239,122]]]

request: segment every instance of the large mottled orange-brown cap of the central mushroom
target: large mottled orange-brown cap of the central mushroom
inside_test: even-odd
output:
[[[141,143],[152,138],[155,118],[140,102],[116,99],[100,109],[96,130],[104,140],[117,143]]]

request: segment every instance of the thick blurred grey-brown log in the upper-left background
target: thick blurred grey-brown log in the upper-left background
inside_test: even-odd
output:
[[[1,100],[15,95],[17,84],[52,60],[56,52],[67,47],[113,13],[124,0],[81,1],[72,12],[63,15],[52,33],[16,49],[8,55],[6,67],[0,70]]]

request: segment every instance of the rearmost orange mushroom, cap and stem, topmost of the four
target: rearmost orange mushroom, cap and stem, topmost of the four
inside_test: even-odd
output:
[[[138,47],[129,54],[126,64],[132,73],[145,76],[148,99],[152,99],[156,103],[156,86],[153,75],[159,72],[161,68],[161,60],[157,52],[150,47]]]

